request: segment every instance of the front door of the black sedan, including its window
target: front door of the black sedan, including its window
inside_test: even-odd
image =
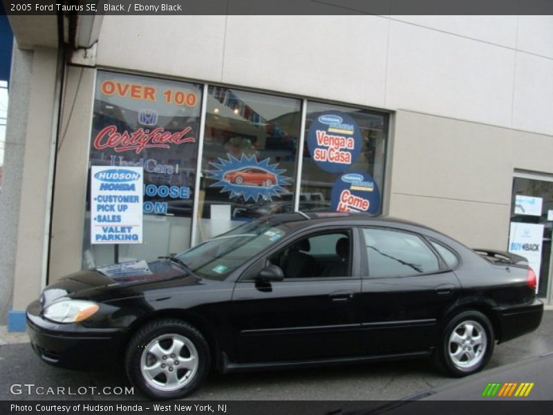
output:
[[[344,238],[350,252],[341,258],[335,247]],[[362,349],[360,262],[352,260],[359,255],[351,255],[358,238],[351,228],[310,232],[250,268],[234,288],[229,316],[234,331],[231,360],[281,362],[358,356]],[[340,244],[344,246],[344,241]],[[266,264],[281,266],[283,281],[256,282],[254,277]]]

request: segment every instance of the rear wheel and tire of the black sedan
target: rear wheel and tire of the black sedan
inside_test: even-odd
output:
[[[479,311],[463,311],[445,326],[434,353],[438,368],[455,377],[480,371],[494,352],[494,329]]]

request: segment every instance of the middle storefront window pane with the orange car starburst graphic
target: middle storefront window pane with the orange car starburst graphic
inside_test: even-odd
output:
[[[294,209],[301,101],[209,86],[196,241]]]

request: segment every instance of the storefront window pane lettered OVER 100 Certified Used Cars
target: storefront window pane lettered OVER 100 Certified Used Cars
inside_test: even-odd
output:
[[[119,261],[189,247],[201,101],[200,84],[98,71],[89,167],[144,168],[144,243],[120,245]],[[87,200],[83,268],[113,263],[114,245],[91,244],[90,221]]]

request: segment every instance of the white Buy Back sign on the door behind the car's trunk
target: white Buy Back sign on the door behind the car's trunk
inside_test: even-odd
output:
[[[536,292],[538,291],[541,246],[543,243],[543,225],[535,223],[511,222],[509,232],[509,252],[521,255],[528,260],[536,273]]]

